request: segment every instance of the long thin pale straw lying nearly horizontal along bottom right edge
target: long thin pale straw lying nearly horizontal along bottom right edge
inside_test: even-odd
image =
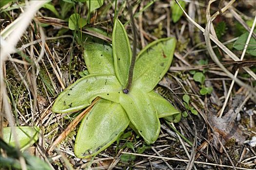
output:
[[[144,156],[144,157],[153,157],[153,158],[158,158],[158,159],[165,159],[165,160],[172,160],[172,161],[180,161],[180,162],[189,162],[189,160],[186,159],[178,159],[178,158],[171,158],[171,157],[162,157],[162,156],[154,156],[154,155],[148,155],[148,154],[139,154],[139,153],[127,153],[127,152],[122,152],[123,154],[132,154],[136,156]],[[208,162],[200,162],[200,161],[195,161],[194,163],[196,164],[203,164],[203,165],[210,165],[210,166],[216,166],[216,167],[223,167],[223,168],[234,168],[229,165],[219,165],[219,164],[212,164]],[[240,168],[240,167],[235,167],[236,170],[254,170],[254,169],[248,169],[248,168]]]

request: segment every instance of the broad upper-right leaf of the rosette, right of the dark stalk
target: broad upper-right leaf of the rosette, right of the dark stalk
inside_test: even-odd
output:
[[[149,92],[154,89],[173,60],[175,38],[163,38],[150,43],[139,52],[134,68],[133,86]]]

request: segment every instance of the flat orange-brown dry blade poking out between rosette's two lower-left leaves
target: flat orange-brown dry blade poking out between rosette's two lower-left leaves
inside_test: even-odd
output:
[[[81,119],[84,118],[84,116],[91,110],[91,108],[98,102],[100,98],[96,98],[90,106],[88,106],[82,113],[79,114],[69,125],[68,127],[59,135],[59,137],[53,142],[50,149],[48,150],[48,153],[52,152],[54,147],[58,145],[68,134],[78,125],[78,123],[81,121]]]

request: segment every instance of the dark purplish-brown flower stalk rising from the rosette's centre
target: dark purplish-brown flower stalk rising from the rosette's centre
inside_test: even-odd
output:
[[[127,94],[131,88],[132,82],[133,82],[133,70],[134,70],[134,66],[135,66],[135,60],[136,60],[136,49],[137,49],[137,34],[136,34],[136,27],[135,27],[135,23],[134,23],[134,17],[133,17],[133,10],[132,10],[132,6],[130,6],[129,1],[127,1],[128,3],[128,8],[129,8],[129,12],[130,12],[130,17],[131,17],[131,23],[132,23],[132,32],[133,32],[133,56],[132,56],[132,61],[131,61],[131,65],[129,68],[129,74],[128,74],[128,81],[126,84],[126,87],[123,89],[123,93]]]

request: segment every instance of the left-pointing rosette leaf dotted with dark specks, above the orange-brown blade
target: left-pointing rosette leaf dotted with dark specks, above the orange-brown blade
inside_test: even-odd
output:
[[[121,86],[116,76],[110,74],[89,74],[59,94],[53,105],[53,112],[67,113],[87,107],[96,97],[119,102]]]

